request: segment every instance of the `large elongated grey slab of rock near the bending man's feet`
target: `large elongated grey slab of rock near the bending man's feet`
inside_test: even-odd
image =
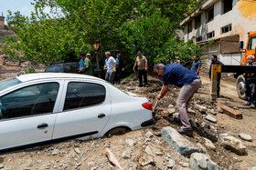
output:
[[[199,152],[200,150],[190,143],[185,137],[180,135],[176,129],[168,126],[162,128],[161,135],[165,142],[170,145],[170,147],[181,155],[191,155],[194,152]]]

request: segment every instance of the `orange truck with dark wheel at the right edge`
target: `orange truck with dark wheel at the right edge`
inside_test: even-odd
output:
[[[240,41],[240,51],[244,53],[244,56],[242,57],[242,61],[240,65],[244,65],[247,62],[247,56],[253,55],[254,56],[254,62],[256,62],[256,30],[251,31],[248,33],[247,43],[244,49],[244,43],[243,41]],[[255,70],[256,72],[256,70]],[[237,77],[237,92],[241,99],[246,99],[245,92],[244,92],[244,77],[243,73],[237,73],[235,75]]]

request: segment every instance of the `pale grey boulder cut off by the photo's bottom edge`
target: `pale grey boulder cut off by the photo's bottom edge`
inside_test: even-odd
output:
[[[190,168],[192,170],[220,170],[219,165],[211,161],[208,155],[204,155],[201,153],[194,153],[190,157]]]

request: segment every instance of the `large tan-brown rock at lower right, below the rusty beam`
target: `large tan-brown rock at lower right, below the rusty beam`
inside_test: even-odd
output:
[[[220,140],[222,141],[223,147],[230,149],[232,152],[236,153],[237,155],[244,155],[246,146],[242,145],[239,139],[231,135],[226,135],[226,136],[221,136]]]

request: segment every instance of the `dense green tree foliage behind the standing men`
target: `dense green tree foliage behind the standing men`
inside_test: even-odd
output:
[[[28,17],[9,12],[8,26],[16,32],[7,37],[5,53],[42,63],[67,60],[69,54],[122,53],[127,67],[137,50],[149,65],[198,53],[198,46],[176,38],[179,22],[199,1],[185,0],[35,0]],[[48,10],[48,12],[46,11]],[[14,24],[18,18],[18,24]],[[17,55],[18,53],[22,55]],[[102,57],[103,59],[103,57]]]

